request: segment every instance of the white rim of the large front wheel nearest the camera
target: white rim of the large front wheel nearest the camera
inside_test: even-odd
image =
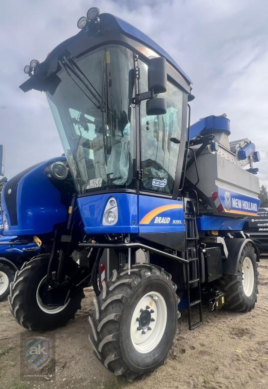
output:
[[[140,299],[130,324],[131,341],[138,352],[145,354],[156,348],[166,329],[167,317],[166,301],[160,293],[149,292]]]

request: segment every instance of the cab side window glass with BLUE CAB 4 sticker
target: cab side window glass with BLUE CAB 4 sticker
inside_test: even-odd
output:
[[[140,64],[140,90],[147,90],[147,65]],[[141,166],[142,189],[171,195],[175,182],[182,134],[183,92],[168,82],[166,93],[159,95],[167,102],[167,113],[147,116],[146,101],[141,102]]]

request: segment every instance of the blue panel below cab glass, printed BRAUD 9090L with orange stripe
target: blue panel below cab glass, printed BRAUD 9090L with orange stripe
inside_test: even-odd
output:
[[[118,205],[118,221],[102,224],[104,210],[111,197]],[[77,199],[85,233],[150,233],[185,231],[183,202],[172,199],[112,193]]]

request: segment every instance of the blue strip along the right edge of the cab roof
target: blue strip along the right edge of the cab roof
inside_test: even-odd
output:
[[[139,40],[140,42],[144,43],[146,46],[151,47],[154,51],[156,51],[161,56],[165,57],[166,60],[168,60],[171,65],[175,67],[176,70],[180,74],[184,76],[184,78],[188,81],[189,84],[192,84],[192,81],[190,78],[183,72],[182,68],[179,67],[179,65],[173,60],[173,58],[164,50],[162,47],[160,47],[154,40],[152,40],[148,35],[143,33],[142,31],[138,30],[138,28],[130,25],[123,19],[118,18],[117,16],[114,16],[116,18],[116,21],[118,22],[121,30],[127,35],[130,35],[130,37],[133,37],[134,39]]]

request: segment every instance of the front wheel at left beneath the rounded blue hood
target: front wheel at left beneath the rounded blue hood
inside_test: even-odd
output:
[[[21,326],[32,330],[53,329],[66,324],[81,308],[83,289],[78,289],[61,306],[46,305],[42,301],[42,286],[47,279],[49,255],[40,255],[25,263],[16,272],[10,284],[9,304],[12,315]],[[70,260],[66,263],[66,277],[77,266]],[[55,273],[54,273],[55,274]]]

